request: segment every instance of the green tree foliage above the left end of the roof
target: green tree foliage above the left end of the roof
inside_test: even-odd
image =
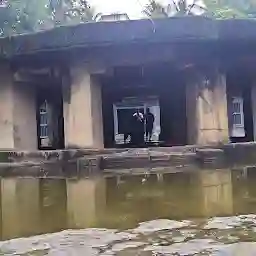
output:
[[[87,0],[0,0],[0,36],[92,20]]]

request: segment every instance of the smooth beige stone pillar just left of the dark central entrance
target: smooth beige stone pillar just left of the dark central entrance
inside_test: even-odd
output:
[[[101,86],[84,66],[70,70],[63,83],[66,148],[103,148]]]

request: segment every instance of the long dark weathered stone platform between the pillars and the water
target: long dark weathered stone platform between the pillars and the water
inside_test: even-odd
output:
[[[0,176],[64,176],[135,169],[222,169],[256,165],[256,143],[133,149],[0,152]]]

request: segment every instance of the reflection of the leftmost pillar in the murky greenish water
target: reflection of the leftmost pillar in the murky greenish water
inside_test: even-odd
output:
[[[40,233],[39,180],[1,180],[2,238]]]

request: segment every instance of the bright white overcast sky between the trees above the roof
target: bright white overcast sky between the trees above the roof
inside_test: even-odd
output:
[[[159,0],[164,5],[171,3],[172,0]],[[193,0],[188,0],[188,3]],[[142,10],[148,0],[89,0],[96,13],[110,14],[113,12],[127,13],[131,19],[142,17]]]

